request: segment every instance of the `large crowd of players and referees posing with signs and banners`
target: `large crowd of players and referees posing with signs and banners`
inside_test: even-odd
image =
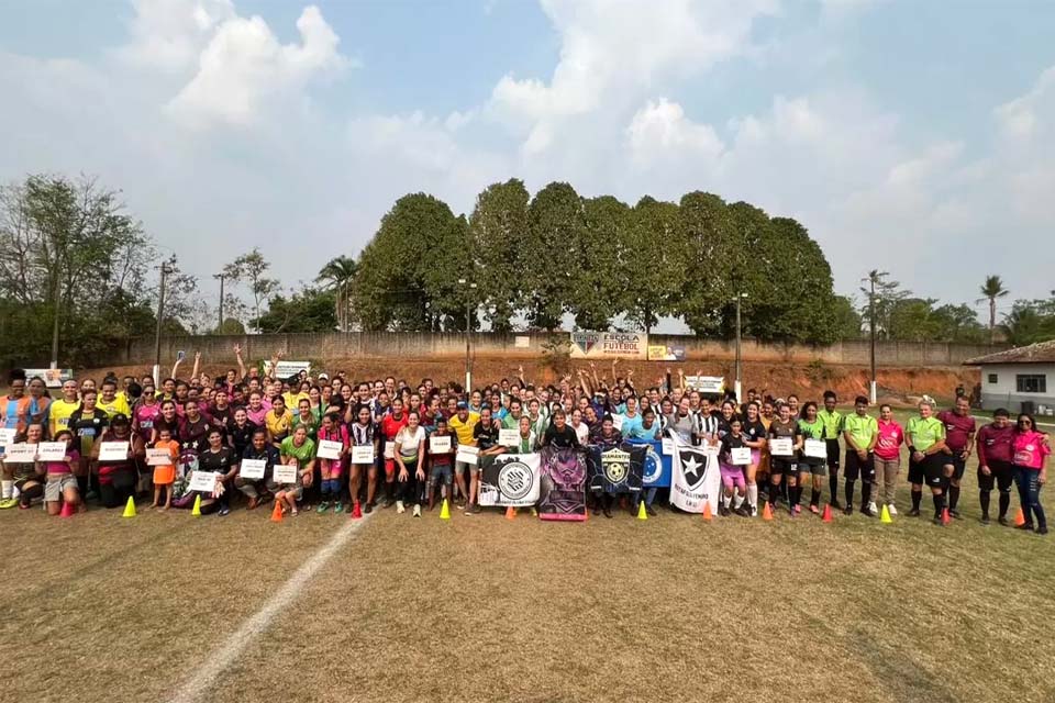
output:
[[[845,411],[833,391],[818,401],[749,389],[741,401],[687,386],[680,369],[652,383],[620,376],[615,360],[610,383],[591,361],[556,384],[535,386],[520,367],[465,389],[308,369],[278,378],[278,355],[248,369],[240,347],[234,356],[236,368],[215,379],[199,372],[196,354],[187,377],[180,359],[159,384],[151,375],[71,378],[56,398],[15,369],[0,509],[225,516],[273,503],[281,520],[392,506],[421,517],[440,505],[446,520],[504,506],[507,516],[523,507],[574,521],[619,510],[644,520],[665,504],[707,518],[796,517],[804,507],[825,521],[840,511],[889,522],[907,478],[904,514],[929,513],[926,493],[934,523],[947,525],[960,517],[976,455],[981,523],[1047,533],[1047,434],[1002,409],[976,422],[965,395],[948,409],[924,398],[902,426],[891,405],[870,408],[863,395]]]

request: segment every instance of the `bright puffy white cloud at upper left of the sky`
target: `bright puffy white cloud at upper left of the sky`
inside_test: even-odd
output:
[[[201,53],[197,75],[167,105],[169,114],[190,126],[249,125],[265,104],[290,100],[310,80],[347,65],[319,8],[304,8],[297,30],[300,44],[284,45],[263,18],[223,21]]]

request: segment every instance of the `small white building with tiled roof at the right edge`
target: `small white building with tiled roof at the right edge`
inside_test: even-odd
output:
[[[1055,339],[967,359],[964,365],[981,367],[985,410],[1055,414]]]

